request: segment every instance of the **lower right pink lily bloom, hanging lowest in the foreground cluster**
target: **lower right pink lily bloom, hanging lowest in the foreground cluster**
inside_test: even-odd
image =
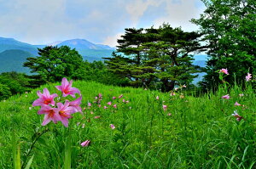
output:
[[[61,122],[65,127],[68,127],[68,119],[72,118],[72,114],[77,112],[73,106],[69,106],[69,102],[66,100],[65,104],[57,103],[57,108],[55,108],[59,115],[61,115]]]

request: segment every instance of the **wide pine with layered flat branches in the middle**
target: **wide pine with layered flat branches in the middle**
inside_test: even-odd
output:
[[[118,53],[107,58],[108,68],[119,76],[125,76],[133,86],[160,87],[170,91],[175,85],[190,84],[199,72],[192,65],[192,53],[201,50],[200,34],[173,29],[164,24],[159,28],[125,29],[119,39]]]

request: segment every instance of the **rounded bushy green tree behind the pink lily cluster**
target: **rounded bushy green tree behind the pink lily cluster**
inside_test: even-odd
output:
[[[28,58],[24,66],[32,73],[37,73],[36,79],[44,82],[56,82],[66,76],[72,79],[83,79],[83,58],[75,50],[67,46],[38,48],[36,58]]]

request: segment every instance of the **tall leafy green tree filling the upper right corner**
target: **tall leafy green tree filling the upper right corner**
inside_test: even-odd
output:
[[[212,87],[219,83],[216,70],[227,68],[226,81],[234,84],[245,79],[247,72],[256,70],[256,1],[254,0],[203,0],[207,9],[201,18],[192,20],[201,26],[211,58],[207,62],[207,76],[201,86]]]

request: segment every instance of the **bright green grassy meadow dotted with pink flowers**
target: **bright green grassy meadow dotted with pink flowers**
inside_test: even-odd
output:
[[[55,93],[54,86],[44,87]],[[256,167],[256,97],[250,87],[245,91],[233,87],[230,92],[220,88],[218,93],[197,98],[183,91],[183,99],[179,93],[170,96],[94,82],[74,82],[73,87],[81,90],[86,109],[84,115],[73,115],[69,128],[60,122],[41,126],[44,115],[37,114],[38,107],[30,110],[38,89],[0,103],[0,168],[14,166],[15,145],[20,147],[21,166],[26,161],[23,166],[30,163],[30,168],[39,169],[68,168],[70,164],[72,168]],[[98,93],[103,95],[102,106],[113,101],[118,108],[104,110],[93,104],[88,109],[87,102],[92,103]],[[227,93],[231,98],[221,99]],[[112,99],[120,94],[130,102]],[[155,99],[157,95],[160,100]],[[235,107],[236,101],[244,106]],[[168,106],[166,111],[163,104]],[[241,121],[231,115],[234,110],[243,116]],[[95,119],[96,115],[101,118]],[[111,129],[110,124],[116,128]],[[17,143],[13,143],[14,134]],[[81,147],[87,139],[90,146]]]

